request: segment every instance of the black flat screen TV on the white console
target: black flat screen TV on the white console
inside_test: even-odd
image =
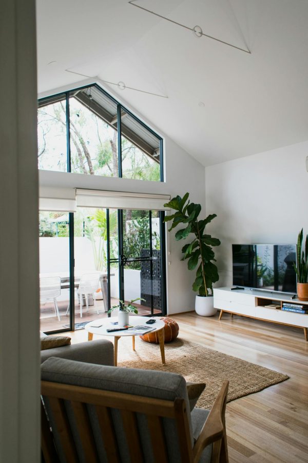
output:
[[[233,284],[296,293],[295,244],[233,244]]]

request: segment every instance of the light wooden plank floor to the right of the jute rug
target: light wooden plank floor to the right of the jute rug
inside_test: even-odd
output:
[[[229,461],[308,462],[308,343],[302,329],[223,314],[172,315],[179,336],[272,368],[290,379],[227,404]],[[72,342],[87,339],[84,330]],[[166,359],[168,362],[168,359]]]

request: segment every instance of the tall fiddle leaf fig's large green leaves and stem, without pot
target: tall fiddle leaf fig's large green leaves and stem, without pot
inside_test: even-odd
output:
[[[219,246],[220,240],[205,234],[204,229],[217,216],[210,214],[206,219],[199,219],[201,205],[190,203],[188,197],[189,193],[185,193],[183,198],[178,195],[164,204],[165,207],[176,211],[174,214],[166,216],[164,222],[172,220],[169,231],[180,224],[185,225],[185,228],[177,231],[177,241],[187,238],[190,234],[195,235],[190,243],[183,246],[184,256],[181,260],[188,259],[188,270],[196,270],[196,279],[192,284],[192,289],[198,292],[199,296],[208,296],[208,290],[213,294],[213,283],[219,279],[217,266],[213,263],[213,261],[216,262],[216,259],[211,246]]]

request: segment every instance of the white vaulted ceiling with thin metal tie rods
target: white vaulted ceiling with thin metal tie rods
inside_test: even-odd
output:
[[[308,139],[306,0],[135,3],[251,55],[126,0],[37,0],[38,91],[70,69],[168,97],[109,84],[205,166]]]

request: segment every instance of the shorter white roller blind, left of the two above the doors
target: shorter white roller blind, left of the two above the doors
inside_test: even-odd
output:
[[[53,212],[76,212],[75,189],[41,187],[38,208]]]

